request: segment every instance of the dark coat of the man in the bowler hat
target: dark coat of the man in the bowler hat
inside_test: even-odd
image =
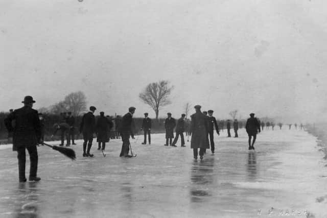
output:
[[[8,131],[13,131],[13,151],[36,146],[41,138],[41,124],[37,110],[24,106],[14,110],[5,119]]]

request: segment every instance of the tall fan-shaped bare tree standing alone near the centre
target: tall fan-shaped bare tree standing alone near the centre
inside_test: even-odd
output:
[[[139,93],[138,97],[154,110],[157,119],[159,109],[171,104],[169,95],[173,88],[173,86],[169,86],[169,81],[166,80],[150,83],[143,92]]]

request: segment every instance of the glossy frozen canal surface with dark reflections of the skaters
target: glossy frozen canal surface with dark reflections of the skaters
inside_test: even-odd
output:
[[[38,183],[18,183],[16,153],[0,146],[0,217],[327,217],[327,171],[315,137],[304,131],[263,131],[255,152],[247,136],[216,137],[216,154],[202,161],[186,148],[165,147],[163,134],[136,158],[120,158],[121,141],[107,156],[82,141],[71,161],[39,147]],[[187,138],[187,137],[186,137]],[[27,176],[29,161],[27,161]]]

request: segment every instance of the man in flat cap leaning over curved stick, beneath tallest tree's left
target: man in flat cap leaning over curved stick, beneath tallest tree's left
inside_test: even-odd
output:
[[[135,108],[130,107],[128,108],[128,113],[126,113],[122,118],[122,123],[120,127],[120,134],[122,136],[122,150],[120,157],[133,157],[132,155],[129,155],[129,138],[133,134],[132,132],[132,120],[133,120],[133,114],[135,113]]]

